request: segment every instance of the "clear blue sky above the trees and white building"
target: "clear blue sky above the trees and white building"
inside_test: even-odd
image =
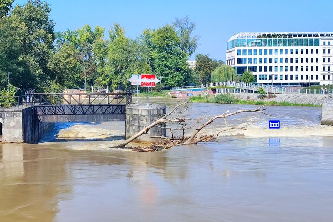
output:
[[[200,36],[196,53],[225,61],[226,42],[238,32],[333,32],[333,1],[108,1],[48,0],[55,31],[85,24],[108,30],[115,22],[135,39],[146,28],[188,16]],[[14,5],[26,0],[15,0]],[[194,56],[193,56],[194,59]]]

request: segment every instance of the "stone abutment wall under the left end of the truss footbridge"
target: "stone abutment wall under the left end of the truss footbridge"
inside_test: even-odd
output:
[[[34,109],[0,109],[2,141],[10,143],[37,143],[54,123],[41,123]]]

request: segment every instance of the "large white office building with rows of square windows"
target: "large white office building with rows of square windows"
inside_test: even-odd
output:
[[[226,63],[258,83],[332,84],[333,33],[238,33],[227,42]]]

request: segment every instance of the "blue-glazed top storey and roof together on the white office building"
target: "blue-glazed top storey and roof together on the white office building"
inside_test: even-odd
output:
[[[235,47],[319,46],[320,36],[333,33],[239,33],[227,42],[227,50]]]

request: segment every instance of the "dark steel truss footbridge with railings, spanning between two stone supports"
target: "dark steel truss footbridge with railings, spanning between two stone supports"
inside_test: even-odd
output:
[[[125,121],[128,93],[79,93],[26,95],[26,105],[34,108],[41,122]]]

